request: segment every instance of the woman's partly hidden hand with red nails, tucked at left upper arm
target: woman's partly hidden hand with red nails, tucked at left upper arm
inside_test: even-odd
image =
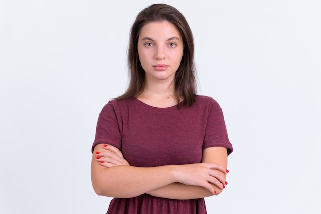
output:
[[[106,167],[130,166],[118,148],[109,144],[104,144],[103,148],[104,150],[95,152],[96,160],[101,162],[101,165]]]

